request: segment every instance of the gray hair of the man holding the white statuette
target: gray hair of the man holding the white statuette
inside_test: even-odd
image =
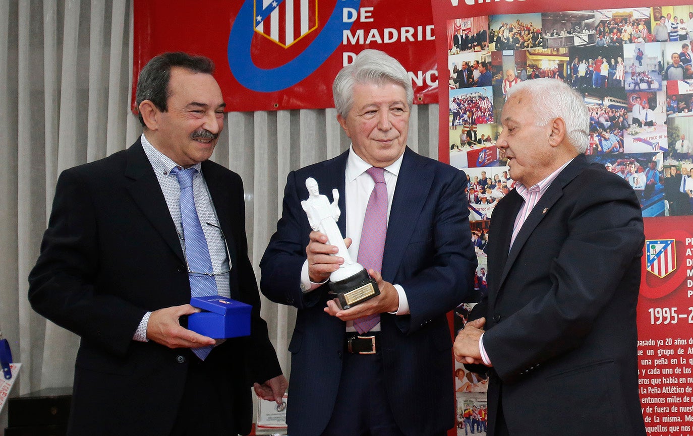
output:
[[[354,84],[398,84],[407,94],[407,107],[412,107],[414,89],[409,73],[394,57],[379,50],[366,49],[356,56],[352,64],[337,73],[332,84],[335,108],[343,118],[353,105]]]

